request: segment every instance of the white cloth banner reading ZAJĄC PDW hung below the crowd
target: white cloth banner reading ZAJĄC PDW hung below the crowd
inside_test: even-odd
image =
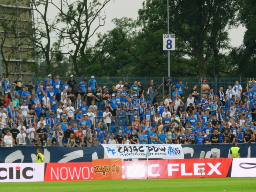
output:
[[[180,144],[155,144],[155,145],[120,145],[102,144],[108,158],[145,159],[147,149],[149,159],[184,159]]]

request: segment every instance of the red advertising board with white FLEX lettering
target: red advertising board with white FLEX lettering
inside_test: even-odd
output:
[[[226,177],[231,158],[123,161],[123,179]]]

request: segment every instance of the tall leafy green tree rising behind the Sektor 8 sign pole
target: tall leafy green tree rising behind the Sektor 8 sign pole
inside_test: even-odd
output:
[[[194,58],[199,76],[211,74],[209,59],[219,63],[228,47],[228,28],[238,10],[236,0],[169,0],[170,32],[176,34],[188,57]],[[139,10],[142,30],[167,31],[166,0],[146,0]],[[209,64],[208,64],[209,63]],[[209,69],[209,70],[208,70]]]

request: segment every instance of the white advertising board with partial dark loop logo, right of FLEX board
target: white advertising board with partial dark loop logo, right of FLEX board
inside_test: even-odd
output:
[[[256,158],[233,158],[231,177],[256,177]]]

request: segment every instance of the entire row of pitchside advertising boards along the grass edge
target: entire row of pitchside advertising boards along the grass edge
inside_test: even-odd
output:
[[[256,158],[0,164],[0,182],[256,177]],[[201,175],[202,173],[202,175]]]

